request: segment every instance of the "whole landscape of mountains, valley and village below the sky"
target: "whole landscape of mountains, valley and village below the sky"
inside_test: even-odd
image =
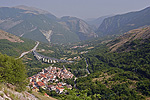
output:
[[[0,7],[0,99],[149,100],[149,11],[101,17],[96,30],[76,17]]]

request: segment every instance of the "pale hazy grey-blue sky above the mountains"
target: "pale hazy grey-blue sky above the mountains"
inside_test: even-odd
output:
[[[150,6],[150,0],[0,0],[0,6],[26,5],[47,10],[57,17],[98,18],[137,11]]]

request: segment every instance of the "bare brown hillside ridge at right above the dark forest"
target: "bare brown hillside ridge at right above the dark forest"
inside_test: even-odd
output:
[[[130,48],[130,43],[132,43],[135,40],[145,40],[150,38],[150,26],[144,27],[144,28],[138,28],[134,30],[130,30],[124,35],[119,36],[115,40],[109,42],[107,46],[111,50],[110,52],[115,52],[119,48],[124,47],[126,44],[128,44],[128,48],[126,48],[124,51],[130,51],[132,50]],[[143,43],[141,41],[141,43]]]

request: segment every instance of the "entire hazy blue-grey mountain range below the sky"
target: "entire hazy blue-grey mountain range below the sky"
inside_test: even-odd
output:
[[[150,25],[150,7],[136,12],[86,20],[27,6],[0,7],[0,29],[16,36],[50,43],[71,43],[120,35]],[[98,27],[99,26],[99,27]]]

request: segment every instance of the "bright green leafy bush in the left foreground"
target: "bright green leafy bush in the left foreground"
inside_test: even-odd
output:
[[[11,83],[16,90],[25,90],[27,85],[26,68],[22,61],[0,53],[0,82]]]

